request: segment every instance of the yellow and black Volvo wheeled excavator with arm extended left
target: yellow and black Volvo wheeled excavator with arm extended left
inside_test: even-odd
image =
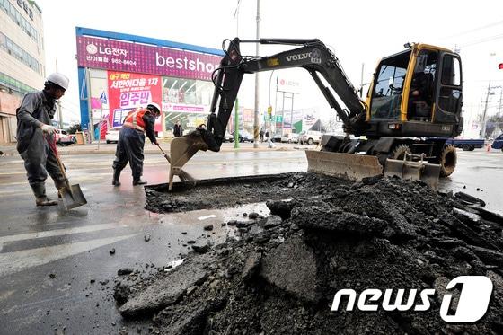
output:
[[[250,57],[242,55],[241,43],[296,48]],[[206,127],[172,140],[170,190],[173,176],[191,178],[182,167],[194,154],[220,150],[243,75],[292,67],[302,67],[313,77],[346,133],[325,135],[320,150],[306,151],[309,172],[349,181],[384,174],[422,180],[435,189],[439,177],[454,172],[456,164],[455,148],[446,145],[446,138],[463,130],[461,58],[428,44],[404,47],[381,59],[362,100],[339,59],[321,40],[224,40],[225,57],[213,75],[215,91]]]

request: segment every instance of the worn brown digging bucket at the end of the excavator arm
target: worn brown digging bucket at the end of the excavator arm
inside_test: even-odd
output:
[[[199,150],[207,151],[207,144],[202,137],[190,133],[183,137],[175,137],[170,146],[170,174],[169,174],[169,190],[172,190],[172,180],[175,175],[178,175],[181,180],[187,179],[190,176],[181,168],[185,163],[189,162],[190,158]],[[190,177],[190,179],[192,179]]]

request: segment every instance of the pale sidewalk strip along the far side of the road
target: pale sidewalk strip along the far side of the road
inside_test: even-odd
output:
[[[166,153],[170,151],[170,143],[161,143],[160,144],[163,150]],[[223,143],[221,146],[221,152],[258,152],[258,151],[269,151],[269,150],[296,150],[297,146],[287,145],[281,143],[275,143],[276,147],[268,148],[267,142],[259,143],[258,148],[253,148],[252,143],[240,143],[239,149],[234,149],[234,143]],[[90,145],[68,145],[68,146],[60,146],[57,145],[57,152],[61,155],[66,154],[115,154],[116,144],[107,145],[104,143],[100,143],[100,148],[98,149],[98,143],[93,143]],[[0,145],[0,151],[4,153],[6,156],[18,155],[17,150],[15,148],[15,143],[9,145]],[[145,153],[159,153],[159,148],[156,145],[151,145],[150,142],[146,141],[145,144]]]

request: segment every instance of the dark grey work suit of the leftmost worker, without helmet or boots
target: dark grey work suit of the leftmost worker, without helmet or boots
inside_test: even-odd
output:
[[[53,137],[43,134],[42,124],[50,125],[56,111],[56,100],[44,91],[28,93],[17,109],[17,151],[24,160],[30,184],[43,183],[49,172],[58,183],[64,181],[57,165],[56,155],[50,150],[48,139]],[[45,138],[47,137],[47,138]]]

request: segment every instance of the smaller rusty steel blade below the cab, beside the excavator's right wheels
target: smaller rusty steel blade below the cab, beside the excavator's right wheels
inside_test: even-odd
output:
[[[413,181],[424,181],[433,190],[437,190],[438,178],[440,177],[440,164],[388,158],[384,168],[384,177],[393,176]]]

